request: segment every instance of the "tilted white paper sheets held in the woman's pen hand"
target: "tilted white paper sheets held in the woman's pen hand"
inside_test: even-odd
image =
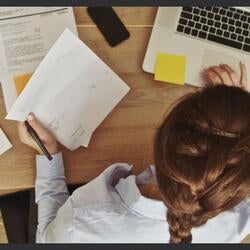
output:
[[[30,112],[58,141],[74,150],[127,94],[129,87],[78,37],[66,29],[32,75],[7,115]]]

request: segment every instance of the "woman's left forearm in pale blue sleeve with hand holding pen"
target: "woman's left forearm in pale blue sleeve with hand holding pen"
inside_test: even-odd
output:
[[[38,234],[43,234],[46,227],[56,217],[58,209],[65,203],[69,194],[65,181],[62,154],[59,153],[55,137],[34,117],[28,116],[28,122],[37,132],[45,147],[52,155],[49,161],[42,155],[40,148],[28,133],[24,122],[18,124],[20,140],[36,149],[40,155],[36,156],[36,203],[38,204]]]

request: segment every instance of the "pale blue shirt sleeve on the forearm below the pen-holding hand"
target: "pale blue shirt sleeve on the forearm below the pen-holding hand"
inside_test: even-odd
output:
[[[53,159],[49,161],[44,155],[36,156],[37,234],[40,236],[54,220],[59,208],[69,197],[62,153],[54,154],[52,157]]]

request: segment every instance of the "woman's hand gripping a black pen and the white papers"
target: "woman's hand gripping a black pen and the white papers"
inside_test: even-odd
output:
[[[49,153],[50,154],[58,153],[59,152],[58,143],[53,134],[46,128],[44,128],[33,114],[30,114],[28,116],[28,122],[30,126],[36,131],[36,133],[42,140],[44,146],[49,151]],[[27,131],[24,122],[18,123],[18,134],[22,143],[34,148],[39,154],[43,154],[40,147],[37,145],[37,143],[34,141],[30,133]]]

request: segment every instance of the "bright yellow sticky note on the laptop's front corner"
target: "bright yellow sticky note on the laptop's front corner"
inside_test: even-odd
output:
[[[183,85],[185,75],[185,56],[158,53],[155,65],[155,80]]]

